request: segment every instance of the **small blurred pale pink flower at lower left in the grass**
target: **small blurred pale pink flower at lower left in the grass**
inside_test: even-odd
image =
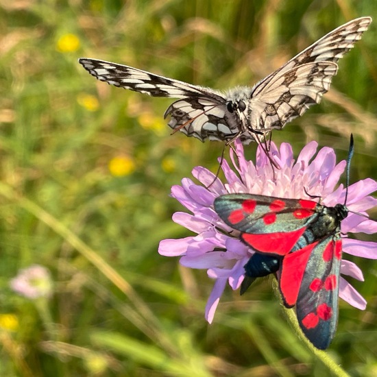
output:
[[[31,300],[50,297],[52,294],[50,273],[40,265],[31,265],[21,269],[19,274],[10,280],[10,287],[14,292]]]

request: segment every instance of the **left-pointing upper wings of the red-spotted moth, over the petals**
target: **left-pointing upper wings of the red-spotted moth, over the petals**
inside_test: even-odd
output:
[[[315,221],[317,203],[252,194],[228,194],[215,199],[215,211],[241,240],[257,250],[283,256],[291,251],[308,223]]]

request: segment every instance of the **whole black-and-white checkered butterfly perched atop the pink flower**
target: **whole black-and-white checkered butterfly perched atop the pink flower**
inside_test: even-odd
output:
[[[178,98],[165,112],[169,127],[200,141],[244,144],[281,129],[321,101],[337,74],[337,62],[350,51],[372,22],[354,19],[304,49],[253,87],[221,93],[122,64],[82,58],[84,69],[98,80],[154,97]]]

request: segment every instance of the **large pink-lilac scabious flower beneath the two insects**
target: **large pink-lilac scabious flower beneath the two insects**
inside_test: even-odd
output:
[[[317,151],[317,143],[312,141],[302,149],[297,160],[293,158],[291,145],[282,143],[280,150],[271,143],[269,156],[278,166],[273,168],[271,161],[261,147],[256,152],[256,163],[246,160],[243,146],[235,142],[235,153],[230,149],[233,168],[223,160],[221,169],[226,184],[204,167],[195,167],[193,176],[203,185],[195,184],[190,178],[182,180],[182,186],[171,188],[171,196],[192,212],[175,212],[173,221],[195,232],[196,236],[184,239],[165,239],[160,242],[158,252],[163,256],[180,256],[180,263],[195,269],[207,269],[208,276],[215,284],[206,304],[206,319],[212,322],[226,283],[238,289],[244,278],[243,266],[254,251],[230,235],[230,228],[221,221],[213,208],[219,195],[227,193],[251,193],[287,199],[308,198],[308,194],[321,197],[321,204],[333,207],[344,204],[345,188],[337,185],[345,169],[345,161],[336,164],[335,151],[324,147]],[[314,157],[315,156],[315,157]],[[314,158],[313,158],[314,157]],[[212,183],[213,182],[213,183]],[[348,187],[347,208],[351,211],[341,222],[341,232],[377,232],[377,222],[352,212],[366,215],[366,210],[377,204],[377,199],[369,196],[377,190],[377,182],[366,178]],[[343,252],[363,258],[377,258],[377,243],[342,238]],[[363,281],[363,273],[354,263],[342,259],[341,273]],[[339,297],[361,310],[365,309],[364,298],[342,277],[339,280]]]

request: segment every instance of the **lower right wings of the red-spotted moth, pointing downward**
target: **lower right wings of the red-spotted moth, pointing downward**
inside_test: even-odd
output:
[[[328,348],[337,329],[341,252],[337,232],[282,260],[279,287],[284,305],[296,306],[302,332],[320,350]]]

